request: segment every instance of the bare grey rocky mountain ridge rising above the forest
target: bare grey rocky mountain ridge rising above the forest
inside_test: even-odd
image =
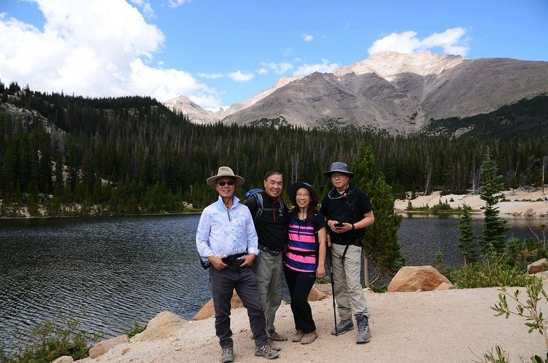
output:
[[[251,99],[207,114],[240,125],[354,125],[409,134],[431,119],[492,112],[546,93],[548,62],[384,52],[333,73],[284,77]],[[198,120],[188,109],[176,110]]]

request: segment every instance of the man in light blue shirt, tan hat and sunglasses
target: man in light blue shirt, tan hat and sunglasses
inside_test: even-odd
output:
[[[257,280],[251,266],[256,255],[257,233],[249,209],[238,203],[234,190],[244,183],[228,166],[221,166],[217,175],[207,183],[219,193],[216,202],[204,208],[198,230],[196,247],[202,262],[210,263],[209,273],[215,331],[221,345],[221,362],[234,362],[234,344],[230,329],[230,299],[236,289],[247,308],[249,325],[253,331],[255,355],[266,359],[277,358],[265,331],[264,310],[259,298]]]

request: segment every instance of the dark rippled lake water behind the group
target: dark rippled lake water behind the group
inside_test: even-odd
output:
[[[24,342],[32,327],[62,312],[109,338],[164,310],[190,319],[211,297],[197,257],[199,215],[0,220],[0,346]],[[408,265],[460,267],[456,218],[403,218]],[[476,234],[482,221],[474,219]],[[509,221],[510,234],[534,238]],[[546,223],[546,221],[543,221]],[[534,229],[535,230],[535,229]],[[538,231],[538,227],[536,228]],[[537,232],[538,233],[538,232]]]

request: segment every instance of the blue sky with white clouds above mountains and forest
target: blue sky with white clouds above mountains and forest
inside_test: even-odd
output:
[[[0,0],[0,81],[227,108],[381,51],[548,61],[548,0]]]

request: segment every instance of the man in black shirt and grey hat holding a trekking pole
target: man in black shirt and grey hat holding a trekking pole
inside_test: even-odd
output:
[[[358,325],[357,343],[371,340],[369,309],[360,282],[364,228],[373,224],[369,197],[349,184],[353,173],[344,162],[334,162],[323,173],[334,186],[323,198],[320,212],[325,216],[332,242],[332,268],[335,299],[340,323],[332,334],[345,334],[354,329],[352,313]]]

